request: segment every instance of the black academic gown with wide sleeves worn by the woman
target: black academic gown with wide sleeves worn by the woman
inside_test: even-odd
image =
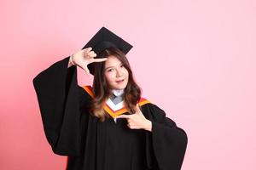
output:
[[[187,146],[182,128],[157,105],[141,105],[152,132],[130,129],[125,119],[100,122],[86,107],[93,99],[78,85],[69,58],[33,79],[44,132],[55,154],[68,156],[67,170],[178,170]]]

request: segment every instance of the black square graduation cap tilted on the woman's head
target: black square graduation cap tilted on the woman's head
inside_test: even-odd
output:
[[[84,46],[84,48],[89,47],[92,48],[92,50],[97,54],[96,58],[98,58],[98,54],[100,54],[106,48],[119,48],[119,50],[121,50],[124,54],[127,54],[132,48],[130,43],[125,42],[125,40],[105,27],[102,27],[99,31],[97,31],[96,35],[92,37]],[[95,63],[91,63],[88,65],[88,69],[92,74],[94,73],[94,64]]]

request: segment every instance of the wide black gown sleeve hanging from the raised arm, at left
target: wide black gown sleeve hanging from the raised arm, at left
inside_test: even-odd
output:
[[[52,150],[61,156],[81,156],[86,137],[90,96],[77,82],[77,68],[67,68],[69,57],[49,66],[33,79]],[[82,114],[83,113],[83,114]]]

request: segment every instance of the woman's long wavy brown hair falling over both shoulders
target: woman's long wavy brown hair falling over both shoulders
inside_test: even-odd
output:
[[[133,113],[135,112],[137,101],[141,98],[141,88],[134,81],[129,61],[121,50],[118,48],[107,48],[98,54],[98,58],[106,58],[110,55],[119,59],[129,73],[128,83],[123,96],[126,109],[130,113]],[[90,105],[90,113],[100,118],[102,122],[105,121],[106,117],[108,117],[108,113],[103,110],[103,105],[112,94],[104,74],[105,63],[105,61],[94,63],[93,91],[95,99]]]

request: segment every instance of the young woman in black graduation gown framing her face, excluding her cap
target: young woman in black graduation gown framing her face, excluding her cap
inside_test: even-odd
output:
[[[52,150],[68,156],[68,170],[180,169],[186,133],[141,97],[114,43],[84,48],[34,78]],[[94,75],[93,87],[78,85],[77,66]]]

